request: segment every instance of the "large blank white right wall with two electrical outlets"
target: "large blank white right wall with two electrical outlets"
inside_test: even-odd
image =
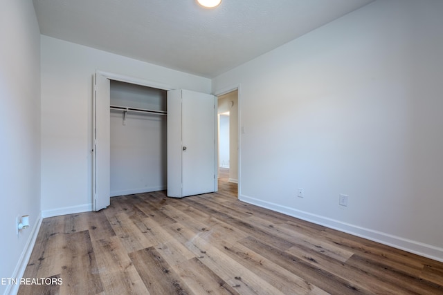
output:
[[[442,15],[375,1],[213,79],[241,86],[240,199],[443,260]]]

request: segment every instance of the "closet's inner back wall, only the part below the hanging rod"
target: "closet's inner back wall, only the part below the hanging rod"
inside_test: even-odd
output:
[[[111,112],[111,197],[166,189],[166,120],[163,115]]]

